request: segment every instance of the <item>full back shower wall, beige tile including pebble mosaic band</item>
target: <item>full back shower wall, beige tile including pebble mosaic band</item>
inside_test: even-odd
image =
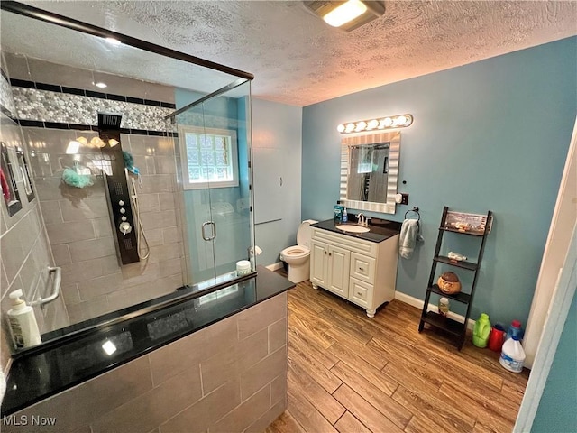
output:
[[[175,199],[174,144],[172,138],[162,136],[163,118],[174,109],[174,89],[10,53],[5,53],[5,59],[12,72],[14,117],[27,121],[23,123],[24,142],[50,250],[56,265],[62,267],[69,323],[182,286],[184,254]],[[99,80],[108,84],[110,93],[90,88]],[[98,111],[123,115],[122,127],[134,134],[122,134],[121,143],[142,173],[142,189],[137,193],[151,255],[122,267],[116,258],[102,174],[93,170],[94,185],[85,189],[61,181],[64,168],[75,164],[75,155],[66,154],[69,141],[84,136],[89,142],[97,136],[91,129]],[[86,165],[98,153],[83,147],[76,160]]]

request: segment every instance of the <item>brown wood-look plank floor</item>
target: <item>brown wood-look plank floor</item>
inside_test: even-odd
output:
[[[266,433],[510,432],[528,371],[417,331],[420,310],[363,309],[310,283],[289,291],[289,408]]]

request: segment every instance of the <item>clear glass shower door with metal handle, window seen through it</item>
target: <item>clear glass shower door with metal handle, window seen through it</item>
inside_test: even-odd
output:
[[[236,277],[253,243],[250,83],[176,116],[188,285]]]

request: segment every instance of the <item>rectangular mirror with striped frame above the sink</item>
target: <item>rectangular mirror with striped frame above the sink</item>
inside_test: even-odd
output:
[[[359,134],[341,141],[341,204],[395,213],[400,133]]]

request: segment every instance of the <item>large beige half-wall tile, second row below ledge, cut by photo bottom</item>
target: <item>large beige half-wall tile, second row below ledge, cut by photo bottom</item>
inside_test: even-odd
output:
[[[92,423],[94,433],[142,433],[159,426],[202,397],[198,366],[190,368],[105,414]]]

